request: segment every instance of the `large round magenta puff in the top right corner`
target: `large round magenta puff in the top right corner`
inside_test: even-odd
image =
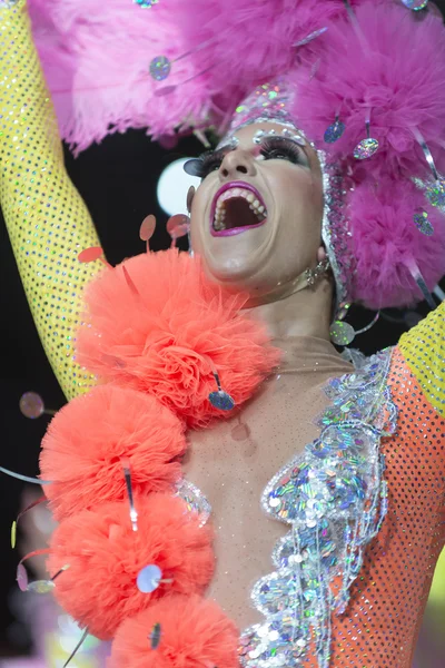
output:
[[[352,156],[370,135],[379,150],[367,170],[413,174],[428,167],[412,128],[424,136],[438,166],[445,166],[445,30],[434,13],[416,21],[402,3],[366,2],[356,17],[365,43],[345,17],[324,36],[316,77],[310,67],[297,76],[295,115],[308,136],[334,157]],[[323,136],[335,115],[346,125],[344,136],[326,145]]]

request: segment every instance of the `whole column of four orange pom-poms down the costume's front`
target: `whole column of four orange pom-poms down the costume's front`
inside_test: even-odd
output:
[[[92,635],[117,632],[119,668],[238,666],[233,622],[201,598],[211,531],[175,494],[184,428],[231,414],[209,402],[212,372],[239,406],[278,361],[265,328],[239,314],[246,299],[176,250],[126,261],[88,289],[79,361],[107,384],[70,402],[42,443],[46,491],[61,520],[49,569],[69,564],[56,596]],[[142,593],[137,576],[150,564],[166,581]],[[147,626],[156,623],[162,639],[151,648]]]

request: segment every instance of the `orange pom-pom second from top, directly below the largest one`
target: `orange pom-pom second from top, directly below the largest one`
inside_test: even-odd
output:
[[[125,499],[122,458],[135,493],[167,491],[185,448],[182,423],[152,396],[99,385],[73,399],[50,423],[40,455],[56,519]]]

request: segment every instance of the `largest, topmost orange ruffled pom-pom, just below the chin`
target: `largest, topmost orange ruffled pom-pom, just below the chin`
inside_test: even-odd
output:
[[[102,273],[86,298],[80,363],[154,394],[189,426],[224,415],[208,400],[217,389],[212,370],[240,405],[278,360],[263,325],[239,314],[247,295],[211,283],[200,261],[185,253],[132,257]]]

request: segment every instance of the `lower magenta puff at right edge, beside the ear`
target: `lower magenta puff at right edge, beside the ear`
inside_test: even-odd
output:
[[[422,293],[408,265],[414,258],[429,289],[445,274],[444,216],[426,206],[424,194],[405,179],[367,181],[353,191],[349,203],[349,243],[356,258],[353,299],[375,310],[419,302]],[[418,210],[427,212],[433,236],[417,229]]]

